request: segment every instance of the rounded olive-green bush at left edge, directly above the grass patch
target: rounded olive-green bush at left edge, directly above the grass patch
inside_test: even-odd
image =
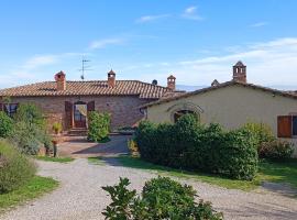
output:
[[[0,193],[24,185],[36,172],[34,164],[8,142],[0,141]]]

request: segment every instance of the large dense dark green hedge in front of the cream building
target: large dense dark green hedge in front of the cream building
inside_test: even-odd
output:
[[[252,179],[257,170],[253,135],[245,129],[226,132],[198,123],[190,114],[175,124],[142,122],[135,133],[141,157],[156,164]]]

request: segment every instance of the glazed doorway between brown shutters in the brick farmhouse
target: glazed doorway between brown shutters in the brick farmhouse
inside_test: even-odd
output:
[[[74,105],[74,125],[75,128],[87,128],[87,103],[78,101]]]

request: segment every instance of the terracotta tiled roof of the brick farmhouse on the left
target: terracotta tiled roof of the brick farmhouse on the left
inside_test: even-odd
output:
[[[43,96],[139,96],[142,99],[160,99],[168,94],[180,94],[167,87],[138,80],[117,80],[116,87],[108,87],[106,80],[67,81],[66,90],[57,91],[55,81],[44,81],[0,90],[0,97]]]

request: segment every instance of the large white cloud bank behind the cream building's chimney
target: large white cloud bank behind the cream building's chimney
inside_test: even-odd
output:
[[[296,85],[297,37],[251,44],[222,56],[209,56],[172,64],[177,81],[188,85],[210,85],[230,80],[237,61],[248,65],[248,80],[258,85]],[[166,75],[164,74],[164,77]]]

